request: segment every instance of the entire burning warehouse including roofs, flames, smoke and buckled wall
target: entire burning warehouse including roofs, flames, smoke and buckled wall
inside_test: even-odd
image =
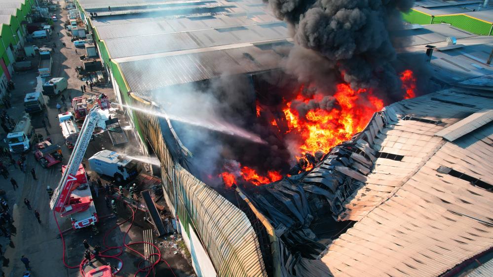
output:
[[[199,276],[431,276],[490,251],[491,38],[392,30],[407,1],[78,2]]]

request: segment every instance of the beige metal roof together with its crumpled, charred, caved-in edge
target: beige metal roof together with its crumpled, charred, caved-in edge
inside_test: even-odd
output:
[[[460,88],[391,104],[302,178],[251,193],[275,229],[282,270],[438,276],[490,249],[493,125],[454,141],[435,134],[492,106],[489,93]],[[323,234],[337,228],[338,238]]]

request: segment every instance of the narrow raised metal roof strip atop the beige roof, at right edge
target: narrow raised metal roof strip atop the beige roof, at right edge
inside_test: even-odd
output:
[[[493,120],[493,109],[482,109],[459,122],[435,133],[435,136],[454,141],[457,138],[468,134]]]

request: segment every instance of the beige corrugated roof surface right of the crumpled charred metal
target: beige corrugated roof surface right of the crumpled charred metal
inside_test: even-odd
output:
[[[370,146],[404,158],[378,158],[365,185],[344,203],[341,219],[358,222],[322,257],[331,273],[439,276],[491,248],[493,193],[437,169],[491,184],[493,126],[468,130],[453,142],[434,134],[492,106],[489,97],[455,88],[385,108],[394,123]],[[406,115],[441,123],[404,120]]]

